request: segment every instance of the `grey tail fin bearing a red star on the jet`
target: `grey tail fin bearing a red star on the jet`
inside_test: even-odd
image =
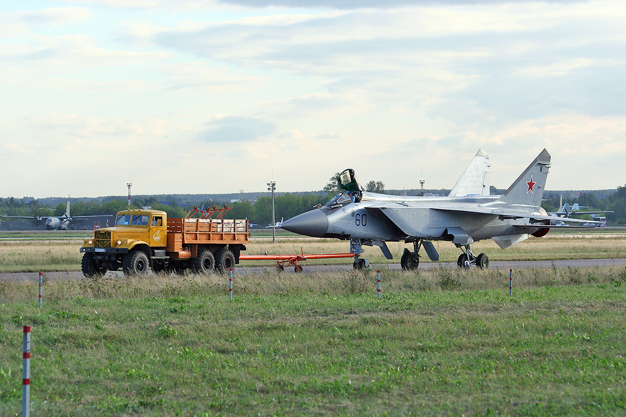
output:
[[[549,169],[550,153],[544,149],[505,191],[500,201],[539,207]]]

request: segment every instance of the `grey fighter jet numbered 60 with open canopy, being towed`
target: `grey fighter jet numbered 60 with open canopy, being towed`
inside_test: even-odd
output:
[[[471,244],[493,239],[502,249],[528,239],[541,237],[553,227],[550,216],[541,208],[550,169],[550,154],[541,153],[502,195],[489,194],[490,166],[483,150],[466,168],[447,197],[408,197],[366,192],[354,170],[337,177],[342,190],[356,193],[354,202],[341,192],[322,207],[282,222],[282,229],[312,237],[350,240],[354,267],[369,264],[361,259],[362,245],[376,245],[392,259],[386,242],[413,243],[413,252],[404,249],[403,269],[416,269],[423,247],[431,260],[439,260],[433,240],[446,240],[461,249],[459,267],[489,266],[486,254],[475,255]],[[588,220],[562,217],[564,222]],[[565,226],[570,227],[570,226]]]

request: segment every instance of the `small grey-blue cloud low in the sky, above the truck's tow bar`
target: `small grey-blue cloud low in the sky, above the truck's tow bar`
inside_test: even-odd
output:
[[[274,133],[278,126],[270,121],[244,116],[218,115],[204,123],[210,126],[198,135],[203,142],[254,142]]]

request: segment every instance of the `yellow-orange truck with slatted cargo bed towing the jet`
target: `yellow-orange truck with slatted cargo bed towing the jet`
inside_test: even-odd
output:
[[[224,209],[198,210],[184,219],[168,219],[161,210],[118,212],[115,226],[96,229],[85,239],[81,269],[86,277],[108,270],[126,275],[153,272],[226,272],[239,264],[239,254],[250,243],[248,220],[223,219]],[[219,212],[217,218],[212,215]],[[195,217],[199,216],[199,217]]]

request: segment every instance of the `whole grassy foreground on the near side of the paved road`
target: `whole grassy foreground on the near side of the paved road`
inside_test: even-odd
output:
[[[623,416],[621,267],[0,282],[0,415]]]

